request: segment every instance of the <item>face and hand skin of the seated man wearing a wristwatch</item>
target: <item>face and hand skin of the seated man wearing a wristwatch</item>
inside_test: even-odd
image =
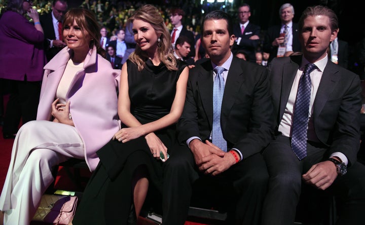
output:
[[[338,30],[331,30],[330,19],[327,16],[309,16],[304,20],[303,29],[300,32],[300,42],[304,57],[314,63],[326,57],[327,47],[336,39]],[[337,157],[334,159],[341,162]],[[336,166],[331,161],[314,164],[305,174],[303,180],[325,190],[337,177]]]

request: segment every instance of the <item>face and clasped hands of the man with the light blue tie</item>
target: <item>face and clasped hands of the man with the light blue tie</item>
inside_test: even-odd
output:
[[[230,47],[234,43],[235,36],[228,32],[227,21],[207,20],[204,22],[201,44],[208,53],[213,63],[221,66],[231,55]],[[199,139],[193,139],[189,147],[194,155],[195,163],[199,170],[205,174],[217,175],[236,163],[233,155],[225,153],[209,141],[203,143]]]

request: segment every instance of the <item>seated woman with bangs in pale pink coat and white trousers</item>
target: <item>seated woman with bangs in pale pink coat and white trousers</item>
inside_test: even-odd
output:
[[[65,14],[67,47],[46,66],[36,121],[19,130],[0,197],[4,224],[29,224],[42,194],[52,183],[52,167],[70,158],[85,159],[90,171],[95,152],[119,130],[114,70],[99,51],[94,14]],[[1,224],[2,220],[0,220]]]

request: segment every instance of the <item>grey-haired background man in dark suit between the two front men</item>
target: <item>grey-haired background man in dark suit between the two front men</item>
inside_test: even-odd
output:
[[[281,24],[269,27],[264,39],[263,47],[266,51],[270,51],[269,62],[280,54],[279,49],[283,49],[281,56],[285,53],[289,55],[289,53],[301,51],[301,45],[298,40],[298,24],[293,23],[294,7],[289,3],[283,4],[279,9],[279,15]],[[284,43],[285,26],[287,26],[286,44]]]

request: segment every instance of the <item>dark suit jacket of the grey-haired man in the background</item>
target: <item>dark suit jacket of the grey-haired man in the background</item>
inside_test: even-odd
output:
[[[265,35],[263,49],[264,49],[264,52],[270,53],[269,62],[273,58],[275,58],[277,55],[278,47],[272,46],[272,42],[276,39],[276,37],[278,37],[280,35],[280,28],[281,28],[281,24],[271,26],[268,28],[266,35]],[[291,29],[291,30],[293,31],[293,51],[300,52],[300,51],[302,51],[302,46],[299,42],[298,23],[293,23],[293,29]]]

